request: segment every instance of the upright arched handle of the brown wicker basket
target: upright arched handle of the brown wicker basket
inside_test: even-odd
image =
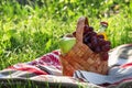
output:
[[[84,34],[84,28],[85,25],[89,26],[88,19],[86,16],[79,18],[77,22],[77,28],[76,28],[76,40],[77,42],[82,43],[82,34]]]

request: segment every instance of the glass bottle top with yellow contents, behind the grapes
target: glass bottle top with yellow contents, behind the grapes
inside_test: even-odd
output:
[[[98,35],[100,35],[100,34],[103,35],[106,41],[108,40],[107,33],[106,33],[107,28],[108,28],[107,22],[100,22],[100,28],[99,28],[99,31],[98,31]]]

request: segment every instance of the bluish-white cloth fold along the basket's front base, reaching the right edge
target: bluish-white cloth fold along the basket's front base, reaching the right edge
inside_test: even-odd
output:
[[[132,63],[124,64],[124,66],[112,67],[110,68],[108,75],[100,75],[85,70],[76,70],[74,76],[76,78],[80,78],[85,81],[96,85],[120,84],[124,80],[132,79]]]

